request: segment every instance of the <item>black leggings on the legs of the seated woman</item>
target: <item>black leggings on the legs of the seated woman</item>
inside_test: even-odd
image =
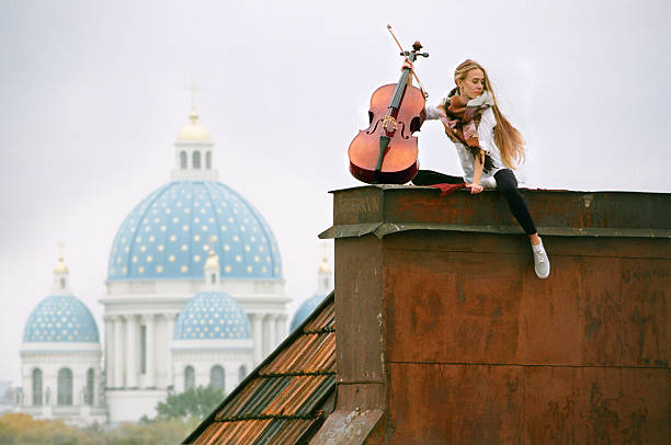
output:
[[[513,214],[520,226],[524,229],[526,235],[534,235],[536,232],[536,226],[534,220],[528,214],[528,208],[522,199],[522,195],[518,191],[518,180],[513,174],[512,170],[504,169],[499,170],[494,174],[497,181],[497,190],[503,194],[510,212]],[[460,184],[464,182],[463,178],[451,176],[448,174],[439,173],[431,170],[420,170],[417,175],[412,179],[414,185],[433,185],[433,184]]]

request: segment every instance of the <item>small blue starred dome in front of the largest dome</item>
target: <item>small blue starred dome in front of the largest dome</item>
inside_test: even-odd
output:
[[[249,320],[231,296],[201,292],[191,298],[174,323],[174,340],[249,339]]]

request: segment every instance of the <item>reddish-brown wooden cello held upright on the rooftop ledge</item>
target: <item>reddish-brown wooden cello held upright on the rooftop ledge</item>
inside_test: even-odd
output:
[[[391,32],[391,26],[387,27]],[[419,53],[421,48],[414,42],[412,52],[401,48],[401,56],[410,62],[418,56],[429,57]],[[379,87],[371,96],[369,126],[359,132],[348,150],[350,172],[362,182],[405,184],[419,170],[417,137],[412,133],[424,122],[427,94],[408,83],[410,73],[411,69],[403,67],[398,83]]]

